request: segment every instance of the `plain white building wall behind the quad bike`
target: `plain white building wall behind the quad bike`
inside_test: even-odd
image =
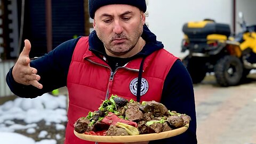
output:
[[[249,24],[256,23],[255,5],[255,0],[236,0],[236,15],[238,11],[243,11]],[[178,57],[187,54],[180,51],[182,26],[188,21],[210,18],[229,24],[233,30],[233,0],[148,0],[147,14],[146,22],[150,30],[164,43],[166,50]],[[239,31],[237,27],[236,31]]]

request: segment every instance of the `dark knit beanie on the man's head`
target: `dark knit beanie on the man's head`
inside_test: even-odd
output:
[[[147,5],[145,0],[89,0],[89,15],[93,19],[95,11],[101,6],[109,4],[127,4],[138,7],[141,11],[146,12]]]

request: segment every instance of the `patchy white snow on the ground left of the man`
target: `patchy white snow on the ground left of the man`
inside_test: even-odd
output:
[[[60,124],[67,122],[67,101],[65,95],[54,97],[48,93],[35,99],[17,98],[0,105],[0,138],[5,144],[55,144],[56,140],[35,140],[15,133],[15,130],[27,130],[27,133],[35,133],[36,123],[44,120],[46,125],[57,123],[57,130],[65,130]],[[15,124],[14,120],[21,120],[26,125]],[[38,137],[45,138],[47,131],[41,131]]]

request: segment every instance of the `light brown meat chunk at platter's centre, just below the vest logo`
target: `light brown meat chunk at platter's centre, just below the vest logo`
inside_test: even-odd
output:
[[[129,103],[125,111],[125,117],[130,121],[137,121],[143,118],[143,113],[135,103]]]

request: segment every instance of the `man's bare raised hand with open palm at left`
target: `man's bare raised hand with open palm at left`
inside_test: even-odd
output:
[[[28,39],[26,39],[24,42],[24,49],[20,53],[20,56],[12,69],[14,81],[24,85],[33,85],[38,89],[42,89],[43,85],[38,82],[41,77],[36,75],[37,69],[30,67],[29,65],[29,52],[31,50],[31,44]]]

